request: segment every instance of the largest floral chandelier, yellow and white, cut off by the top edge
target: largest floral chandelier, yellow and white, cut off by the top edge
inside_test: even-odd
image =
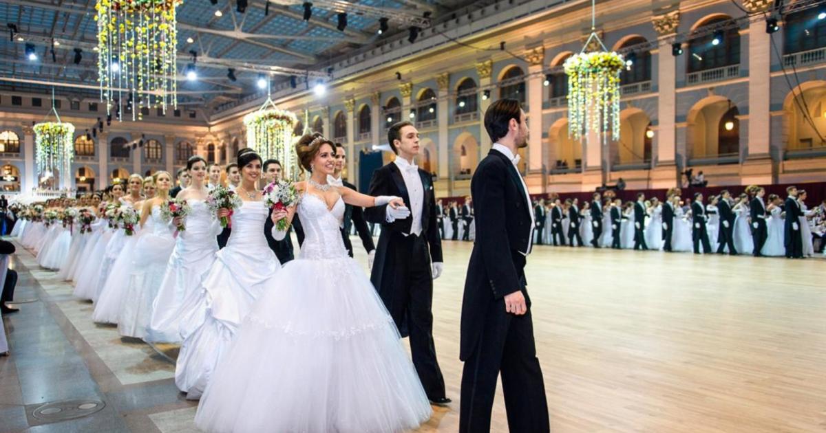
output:
[[[142,108],[178,106],[178,26],[183,0],[97,0],[97,75],[107,114],[121,120],[124,96],[132,120]],[[135,106],[136,104],[136,106]]]

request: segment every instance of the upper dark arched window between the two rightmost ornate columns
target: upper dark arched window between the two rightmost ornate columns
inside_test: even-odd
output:
[[[728,16],[717,16],[705,21],[698,28],[728,20]],[[716,45],[714,45],[715,40]],[[722,31],[722,34],[714,32],[691,40],[688,45],[687,59],[689,73],[740,64],[740,34],[737,28]]]

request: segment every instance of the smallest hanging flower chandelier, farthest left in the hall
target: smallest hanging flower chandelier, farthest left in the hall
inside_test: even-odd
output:
[[[56,170],[68,173],[74,160],[74,125],[44,122],[34,126],[37,172],[50,176]]]

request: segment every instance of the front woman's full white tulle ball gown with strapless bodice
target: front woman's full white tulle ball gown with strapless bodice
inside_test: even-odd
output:
[[[306,238],[255,304],[195,422],[214,432],[404,431],[430,403],[399,332],[339,233],[344,201],[298,205]],[[233,233],[234,235],[235,233]]]

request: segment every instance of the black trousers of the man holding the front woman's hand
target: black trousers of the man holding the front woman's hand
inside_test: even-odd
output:
[[[410,336],[413,366],[419,374],[427,397],[444,398],[444,377],[436,360],[433,341],[433,275],[430,269],[430,250],[420,236],[393,238],[401,245],[391,248],[395,265],[392,299],[382,297],[387,310],[400,327],[402,335]],[[391,252],[387,252],[390,254]],[[382,290],[383,291],[383,290]]]

